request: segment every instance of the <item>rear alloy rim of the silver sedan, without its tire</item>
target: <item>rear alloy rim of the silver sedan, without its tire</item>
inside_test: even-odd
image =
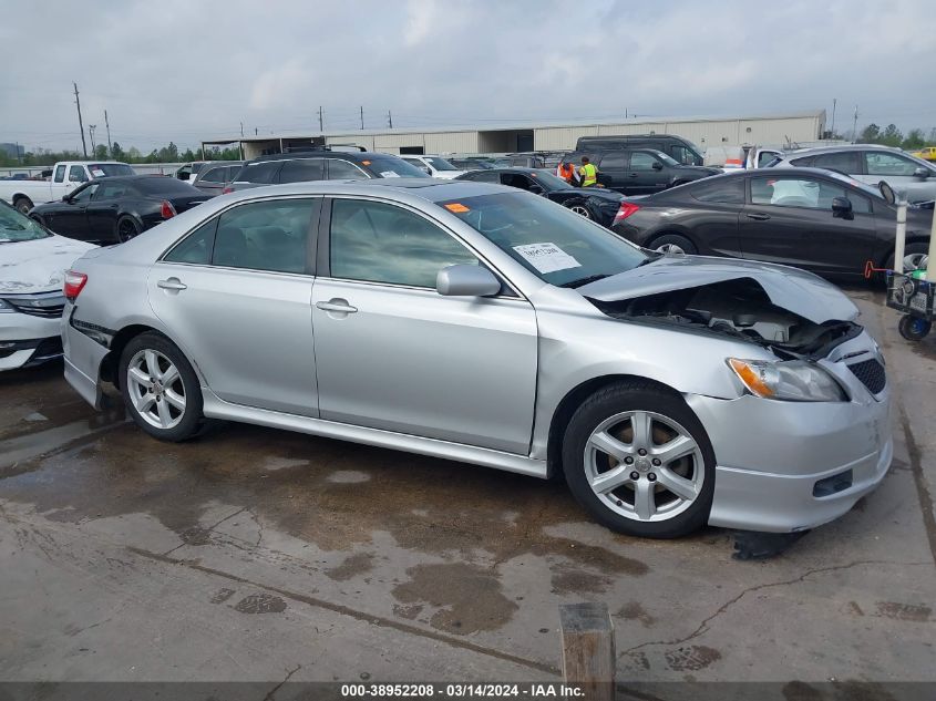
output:
[[[185,415],[185,383],[163,353],[144,349],[130,361],[126,391],[140,416],[156,429],[173,429]]]

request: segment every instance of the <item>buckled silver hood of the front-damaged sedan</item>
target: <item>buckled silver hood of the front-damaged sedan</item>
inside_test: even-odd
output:
[[[603,302],[750,278],[778,307],[814,323],[852,321],[857,307],[839,288],[812,272],[753,260],[703,256],[664,256],[652,262],[579,287],[584,297]]]

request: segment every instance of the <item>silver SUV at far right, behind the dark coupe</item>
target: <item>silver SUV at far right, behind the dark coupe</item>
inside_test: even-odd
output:
[[[936,165],[899,148],[850,144],[801,148],[785,154],[773,167],[814,167],[839,171],[876,186],[882,181],[909,202],[936,199]]]

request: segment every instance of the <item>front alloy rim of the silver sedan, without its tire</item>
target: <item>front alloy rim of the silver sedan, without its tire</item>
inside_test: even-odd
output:
[[[702,451],[679,423],[648,411],[603,421],[585,445],[592,491],[613,512],[639,522],[670,519],[702,493]]]

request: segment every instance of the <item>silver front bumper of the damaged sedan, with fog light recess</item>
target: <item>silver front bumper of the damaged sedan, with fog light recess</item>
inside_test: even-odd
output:
[[[867,347],[850,353],[852,343],[836,353],[846,360],[822,362],[848,401],[687,398],[716,451],[710,525],[805,530],[839,518],[881,484],[894,453],[889,392],[860,379],[861,363],[880,359]]]

